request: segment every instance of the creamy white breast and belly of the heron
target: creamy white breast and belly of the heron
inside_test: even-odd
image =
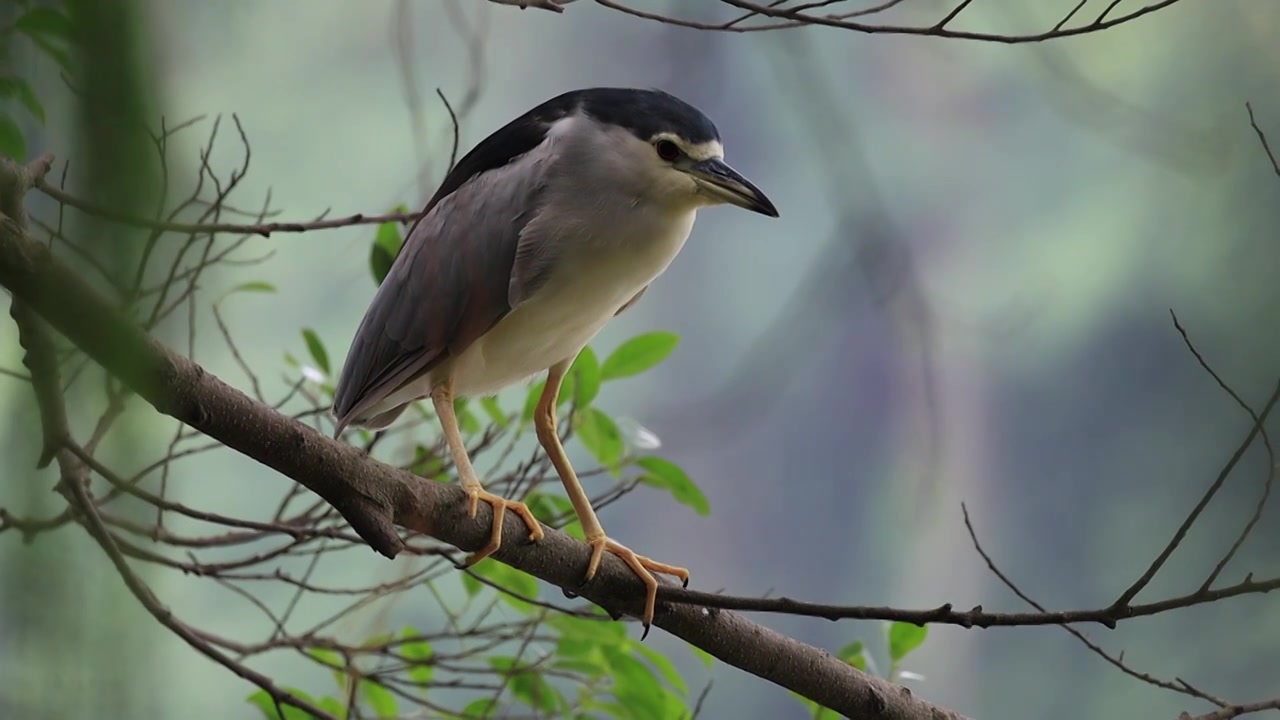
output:
[[[493,395],[573,357],[667,269],[692,224],[691,210],[650,217],[643,224],[620,222],[620,234],[603,242],[575,243],[541,290],[431,374],[451,373],[461,396]]]

